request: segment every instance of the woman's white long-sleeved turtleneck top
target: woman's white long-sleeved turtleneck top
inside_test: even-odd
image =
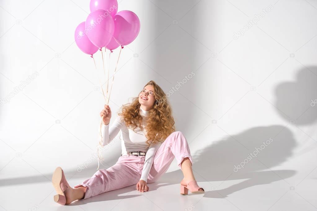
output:
[[[140,107],[140,115],[143,117],[143,126],[145,127],[145,120],[148,115],[148,111],[145,111]],[[118,116],[111,127],[109,124],[105,125],[102,123],[101,136],[102,136],[102,146],[109,144],[115,136],[121,130],[121,149],[122,155],[127,155],[128,152],[146,152],[144,166],[141,174],[140,180],[147,182],[151,167],[153,165],[153,160],[156,152],[158,151],[161,143],[151,143],[151,145],[146,144],[146,130],[140,130],[139,127],[135,129],[127,128],[122,116]],[[133,156],[133,155],[131,155]]]

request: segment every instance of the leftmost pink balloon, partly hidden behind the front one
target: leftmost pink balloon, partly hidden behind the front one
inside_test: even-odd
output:
[[[75,29],[75,42],[79,49],[89,55],[98,51],[98,47],[92,44],[85,34],[85,22],[80,23]]]

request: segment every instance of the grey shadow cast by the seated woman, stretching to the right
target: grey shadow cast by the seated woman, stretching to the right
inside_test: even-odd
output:
[[[295,147],[296,141],[293,134],[284,126],[251,128],[232,137],[228,136],[213,142],[198,151],[193,156],[194,175],[198,182],[211,183],[211,188],[205,187],[211,191],[206,191],[204,195],[210,198],[224,198],[254,185],[270,184],[279,180],[288,183],[286,178],[292,177],[296,171],[272,171],[271,168],[287,161],[293,155],[292,151]],[[180,171],[166,173],[159,182],[169,183],[163,186],[170,185],[171,178],[178,178],[173,183],[178,184],[183,176],[178,172]],[[223,183],[218,186],[212,185],[214,181],[225,183],[225,181],[236,179],[245,179],[245,181],[227,188],[222,188]],[[155,188],[160,186],[162,185],[157,185]]]

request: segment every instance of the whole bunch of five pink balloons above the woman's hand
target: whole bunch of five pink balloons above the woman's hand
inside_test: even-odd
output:
[[[103,47],[112,51],[138,36],[139,17],[130,10],[117,11],[117,0],[90,0],[91,13],[75,29],[75,42],[82,52],[92,56]]]

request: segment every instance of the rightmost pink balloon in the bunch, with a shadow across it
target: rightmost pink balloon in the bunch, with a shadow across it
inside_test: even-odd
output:
[[[139,34],[140,20],[130,10],[122,10],[114,16],[114,39],[120,45],[130,44]]]

